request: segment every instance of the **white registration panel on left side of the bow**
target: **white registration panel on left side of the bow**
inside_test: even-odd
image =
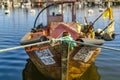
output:
[[[55,60],[49,49],[37,50],[35,53],[45,65],[55,64]]]

